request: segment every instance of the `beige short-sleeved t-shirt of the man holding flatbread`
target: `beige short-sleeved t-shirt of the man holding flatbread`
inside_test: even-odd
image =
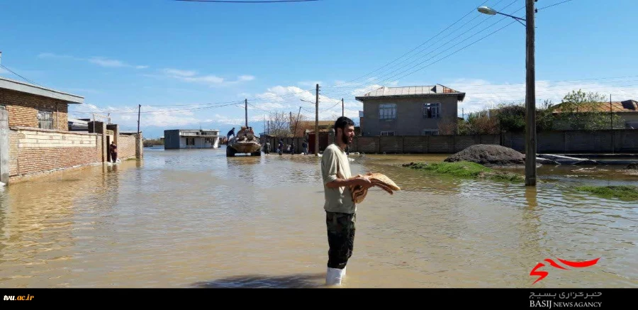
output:
[[[352,201],[352,194],[348,187],[330,188],[325,184],[335,179],[348,179],[350,175],[350,162],[345,151],[335,143],[328,145],[321,157],[321,175],[323,176],[323,191],[325,204],[323,209],[329,212],[353,214],[357,206]]]

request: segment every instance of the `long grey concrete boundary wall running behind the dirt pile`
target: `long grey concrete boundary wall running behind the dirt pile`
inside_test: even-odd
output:
[[[525,153],[524,133],[355,137],[349,151],[359,153],[452,154],[477,144],[503,145],[520,153]],[[538,133],[537,153],[638,153],[638,130],[550,131]]]

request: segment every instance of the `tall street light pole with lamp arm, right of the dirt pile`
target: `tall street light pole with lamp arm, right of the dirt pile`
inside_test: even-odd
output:
[[[504,15],[514,18],[526,28],[526,59],[525,59],[525,186],[536,186],[536,77],[534,59],[534,3],[537,0],[525,0],[525,17],[520,18],[500,13],[487,6],[481,6],[478,11],[488,15]],[[521,21],[525,21],[522,23]]]

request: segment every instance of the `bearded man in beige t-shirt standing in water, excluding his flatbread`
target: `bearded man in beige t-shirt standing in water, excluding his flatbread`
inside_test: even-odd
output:
[[[321,175],[325,196],[325,223],[328,228],[328,270],[326,285],[340,285],[346,265],[354,248],[354,221],[357,206],[352,201],[350,185],[368,189],[372,183],[367,177],[352,178],[350,163],[345,153],[354,139],[354,122],[341,116],[335,121],[335,143],[328,145],[321,157]]]

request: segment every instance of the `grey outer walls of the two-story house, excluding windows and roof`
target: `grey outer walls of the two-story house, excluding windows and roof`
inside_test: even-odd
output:
[[[425,118],[423,104],[440,103],[440,118]],[[395,119],[379,119],[379,104],[396,104]],[[381,135],[381,131],[394,131],[395,135],[422,135],[423,129],[438,129],[442,121],[456,121],[457,96],[422,98],[366,99],[361,130],[364,136]]]

